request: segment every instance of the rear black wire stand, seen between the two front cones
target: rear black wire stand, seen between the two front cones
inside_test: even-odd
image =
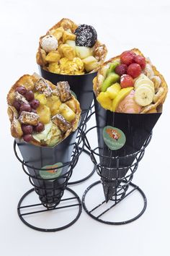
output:
[[[86,127],[87,127],[87,122],[89,121],[89,119],[91,119],[91,116],[92,116],[94,113],[95,113],[95,112],[94,112],[94,103],[92,103],[91,106],[90,106],[88,109],[82,111],[82,113],[81,113],[81,116],[85,116],[84,121],[82,121],[81,126],[80,126],[81,130],[84,131],[84,136],[86,136],[86,135],[85,135],[85,132],[86,132]],[[79,143],[81,143],[81,135],[80,135],[80,134],[77,135],[77,138],[76,138],[76,139],[79,140]],[[91,158],[91,153],[90,153],[90,151],[89,151],[89,150],[86,150],[86,149],[84,148],[84,149],[82,150],[81,155],[80,155],[79,161],[81,161],[81,156],[83,155],[83,153],[85,153],[86,155],[89,155],[89,159]],[[96,169],[96,166],[95,166],[95,164],[94,164],[94,167],[92,168],[92,171],[91,171],[87,176],[85,176],[85,177],[82,178],[82,179],[76,180],[76,181],[74,181],[74,182],[68,182],[68,185],[74,185],[74,184],[79,184],[79,183],[81,183],[81,182],[85,182],[87,179],[89,179],[89,178],[94,174],[95,169]]]

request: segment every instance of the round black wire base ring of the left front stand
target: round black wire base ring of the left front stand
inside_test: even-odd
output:
[[[18,206],[17,206],[17,213],[18,213],[18,216],[20,218],[20,220],[27,226],[29,226],[31,229],[35,229],[37,231],[44,231],[44,232],[55,232],[55,231],[60,231],[60,230],[63,230],[63,229],[66,229],[68,228],[69,226],[73,225],[73,223],[75,223],[80,215],[81,215],[81,210],[82,210],[82,205],[81,205],[81,200],[79,198],[79,196],[76,194],[76,192],[74,192],[72,189],[66,187],[66,190],[68,192],[70,192],[73,197],[68,197],[68,198],[62,198],[61,199],[61,202],[59,205],[55,206],[55,208],[44,208],[42,203],[37,203],[37,204],[33,204],[33,205],[22,205],[22,202],[23,200],[25,199],[25,197],[27,197],[28,195],[30,195],[30,193],[32,192],[35,192],[35,189],[32,188],[30,190],[28,190],[22,197],[21,199],[19,200],[19,203],[18,203]],[[71,200],[76,200],[77,202],[76,203],[71,203],[71,204],[68,204],[68,205],[63,205],[63,206],[60,206],[62,202],[70,202]],[[22,213],[23,210],[27,210],[27,208],[40,208],[40,206],[42,206],[42,210],[33,210],[33,211],[27,211],[26,213]],[[45,228],[40,228],[38,226],[34,226],[32,225],[31,223],[29,223],[29,219],[30,218],[27,218],[27,216],[30,216],[30,215],[35,215],[37,216],[38,213],[42,214],[42,213],[45,213],[45,218],[47,218],[47,212],[49,213],[49,211],[53,211],[53,214],[54,214],[54,211],[56,213],[56,211],[58,210],[62,210],[62,209],[67,209],[67,208],[77,208],[77,214],[76,214],[76,217],[73,218],[72,221],[69,221],[66,225],[63,225],[63,226],[58,226],[58,227],[55,227],[53,229],[45,229]],[[36,214],[35,214],[36,213]],[[70,212],[68,211],[68,216],[70,216]],[[26,217],[26,218],[25,218]],[[56,216],[57,218],[58,216]],[[27,219],[27,220],[26,220]],[[36,217],[35,217],[35,220],[36,220]]]

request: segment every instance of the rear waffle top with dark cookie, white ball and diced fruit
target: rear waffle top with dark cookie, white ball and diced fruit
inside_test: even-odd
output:
[[[53,73],[84,74],[99,67],[104,47],[97,43],[94,27],[79,25],[75,30],[66,20],[40,39],[37,63]]]

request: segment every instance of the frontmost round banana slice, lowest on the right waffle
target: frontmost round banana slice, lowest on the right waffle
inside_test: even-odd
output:
[[[153,96],[153,90],[151,90],[148,85],[140,86],[135,90],[135,102],[139,106],[147,106],[151,104],[153,102]]]

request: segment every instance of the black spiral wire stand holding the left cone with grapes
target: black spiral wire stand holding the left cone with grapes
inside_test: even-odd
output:
[[[81,148],[79,147],[79,143],[81,140]],[[71,175],[73,173],[73,168],[75,168],[76,163],[79,161],[79,155],[81,155],[82,151],[84,150],[84,133],[79,128],[79,140],[78,142],[74,143],[73,153],[71,156],[71,161],[67,163],[63,163],[63,166],[55,167],[55,170],[58,168],[68,167],[67,171],[58,176],[57,178],[49,178],[49,179],[42,179],[40,175],[37,175],[37,171],[53,171],[53,168],[35,168],[32,166],[31,163],[24,162],[21,158],[19,158],[19,155],[17,153],[17,142],[14,140],[14,154],[16,155],[18,161],[22,163],[22,170],[24,171],[27,176],[29,176],[30,183],[34,188],[27,191],[19,200],[18,206],[17,206],[17,213],[19,215],[19,218],[21,221],[29,226],[32,229],[35,229],[37,231],[45,231],[45,232],[51,232],[51,231],[60,231],[63,229],[68,228],[69,226],[73,225],[81,215],[82,205],[81,200],[79,196],[74,192],[72,189],[68,188],[68,180],[71,178]],[[30,174],[29,168],[32,169],[34,174]],[[49,186],[50,184],[50,186]],[[64,192],[68,192],[68,194],[71,194],[71,197],[63,198]],[[32,203],[29,205],[23,205],[22,203],[28,197],[32,192],[35,192],[40,199],[40,203]],[[65,203],[65,205],[63,205]],[[66,205],[67,203],[67,205]],[[61,205],[62,204],[62,205]],[[37,208],[37,210],[35,210]],[[47,214],[50,212],[55,211],[55,214],[59,210],[67,210],[70,208],[75,208],[77,213],[76,216],[73,218],[73,220],[66,220],[66,224],[64,225],[58,225],[54,228],[42,228],[37,225],[32,225],[30,223],[30,218],[28,216],[36,216],[37,214]],[[33,210],[32,210],[33,209]],[[25,212],[27,210],[27,212]],[[68,216],[70,215],[68,211]],[[58,216],[56,215],[56,218]],[[50,217],[49,217],[50,218]],[[69,217],[70,218],[70,217]]]

